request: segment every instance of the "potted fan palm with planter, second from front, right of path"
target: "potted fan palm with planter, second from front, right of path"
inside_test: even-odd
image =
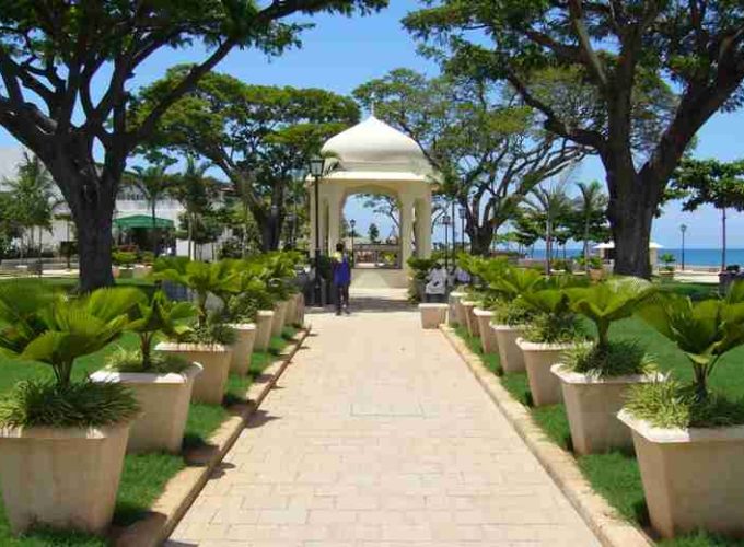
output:
[[[655,288],[638,278],[613,278],[593,287],[568,289],[572,309],[592,321],[596,339],[565,354],[553,365],[560,380],[573,450],[595,454],[632,444],[630,430],[617,420],[628,389],[660,380],[652,359],[635,340],[611,340],[614,322],[630,317]]]

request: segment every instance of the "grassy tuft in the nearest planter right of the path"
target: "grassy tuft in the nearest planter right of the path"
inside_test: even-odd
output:
[[[625,408],[659,428],[719,428],[744,424],[744,397],[699,397],[696,386],[674,380],[631,387]]]

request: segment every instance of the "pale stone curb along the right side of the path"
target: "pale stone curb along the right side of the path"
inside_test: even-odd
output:
[[[440,325],[439,328],[602,545],[653,546],[654,543],[643,531],[618,517],[615,509],[592,489],[573,456],[545,437],[530,411],[511,396],[496,374],[486,369],[480,358],[470,351],[454,329],[446,325]]]

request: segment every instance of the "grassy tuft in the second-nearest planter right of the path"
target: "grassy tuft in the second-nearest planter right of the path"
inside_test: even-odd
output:
[[[577,346],[566,352],[563,363],[573,372],[596,377],[648,374],[655,369],[654,359],[638,340],[613,340],[604,348]]]

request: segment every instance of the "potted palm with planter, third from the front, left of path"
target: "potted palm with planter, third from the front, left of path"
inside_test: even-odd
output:
[[[166,279],[183,284],[196,295],[198,310],[196,326],[183,334],[174,333],[156,350],[179,354],[187,362],[201,364],[204,371],[194,382],[193,400],[209,405],[222,403],[228,384],[235,331],[224,324],[221,312],[209,312],[210,294],[230,291],[237,283],[237,275],[230,264],[201,261],[188,263],[183,271],[166,269],[155,274],[155,279]]]

